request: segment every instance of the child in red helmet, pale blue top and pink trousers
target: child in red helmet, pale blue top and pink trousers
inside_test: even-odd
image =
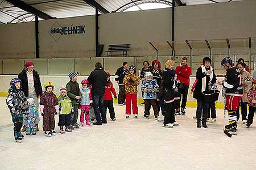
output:
[[[90,88],[88,86],[89,81],[84,79],[82,80],[81,84],[82,84],[82,89],[81,89],[82,100],[79,106],[79,108],[81,109],[80,122],[81,122],[81,125],[84,126],[84,117],[85,117],[86,125],[90,126],[89,112],[90,112],[90,105],[92,105],[92,95],[90,94]]]

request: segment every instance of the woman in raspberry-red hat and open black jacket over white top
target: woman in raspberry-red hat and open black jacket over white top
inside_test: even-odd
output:
[[[24,92],[26,98],[33,98],[35,101],[35,107],[38,109],[38,96],[43,95],[43,90],[40,82],[38,71],[34,70],[34,63],[27,61],[24,65],[24,69],[19,73],[18,78],[22,81],[21,89]],[[26,115],[23,116],[23,129],[26,131]],[[40,117],[36,118],[36,131],[39,131],[38,124]]]

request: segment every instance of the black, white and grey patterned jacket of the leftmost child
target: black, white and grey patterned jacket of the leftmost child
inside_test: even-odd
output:
[[[9,95],[6,99],[6,104],[10,109],[11,116],[17,116],[18,114],[27,114],[27,99],[23,91],[9,88],[8,92]]]

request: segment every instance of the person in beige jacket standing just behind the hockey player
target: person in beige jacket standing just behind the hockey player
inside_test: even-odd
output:
[[[237,63],[237,69],[240,71],[241,74],[241,84],[243,87],[243,97],[240,101],[240,105],[241,105],[241,112],[242,112],[242,121],[243,124],[246,124],[247,121],[247,103],[248,103],[248,99],[247,99],[247,93],[251,87],[251,82],[253,82],[253,78],[251,77],[251,74],[248,71],[245,71],[245,63],[243,62],[238,62]],[[239,120],[240,117],[240,113],[239,113],[239,105],[238,105],[238,109],[237,109],[237,121]]]

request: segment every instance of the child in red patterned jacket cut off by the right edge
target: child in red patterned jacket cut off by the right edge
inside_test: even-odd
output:
[[[249,114],[246,126],[247,128],[250,128],[251,124],[253,124],[254,112],[256,113],[256,80],[254,80],[251,84],[251,89],[249,90],[247,96],[249,101]]]

